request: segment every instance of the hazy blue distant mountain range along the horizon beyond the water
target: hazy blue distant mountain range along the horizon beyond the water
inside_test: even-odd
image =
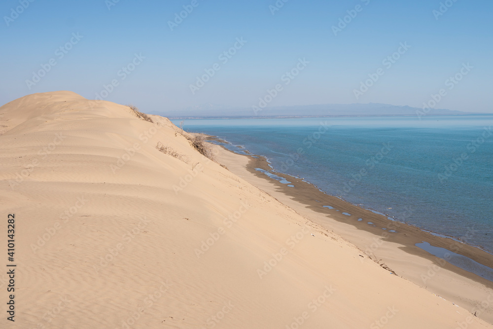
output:
[[[183,110],[154,111],[170,119],[190,118],[253,118],[253,117],[314,117],[314,116],[391,116],[391,115],[465,115],[461,112],[446,109],[430,109],[427,113],[421,108],[396,106],[389,104],[320,104],[302,106],[277,106],[260,108],[231,108],[222,105],[204,104]]]

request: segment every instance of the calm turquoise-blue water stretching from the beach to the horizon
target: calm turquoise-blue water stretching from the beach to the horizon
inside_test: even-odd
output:
[[[493,115],[184,122],[327,194],[490,252],[492,126]]]

